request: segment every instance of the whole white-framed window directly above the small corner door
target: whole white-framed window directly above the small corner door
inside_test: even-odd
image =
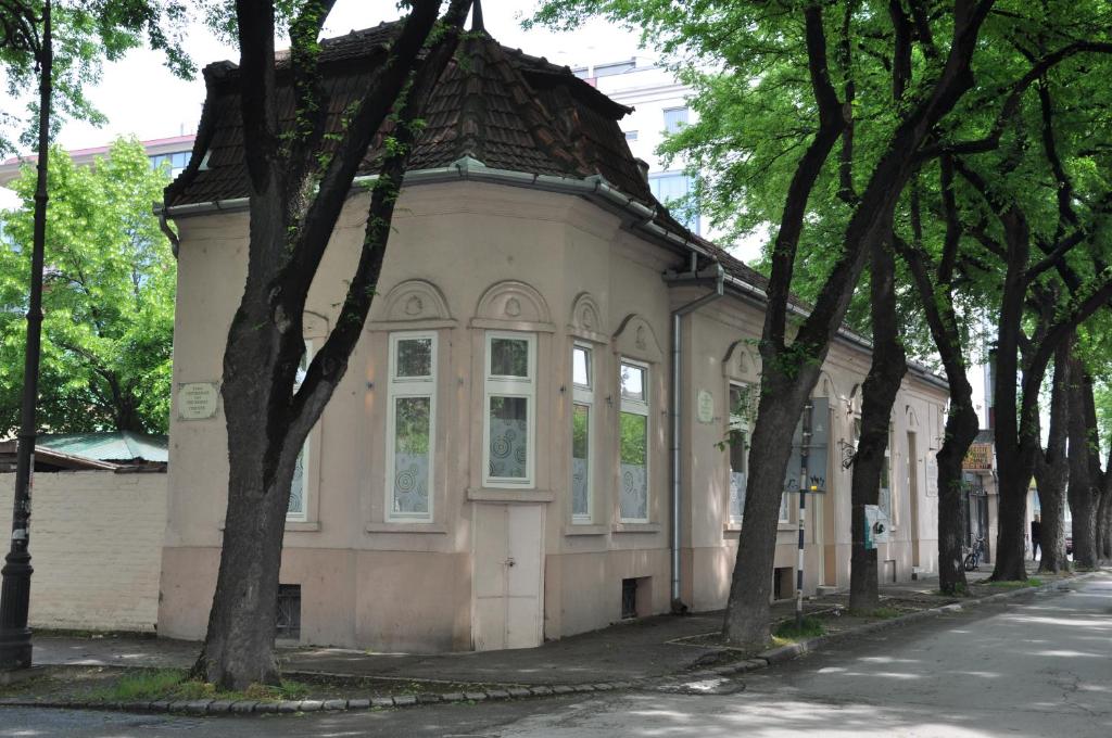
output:
[[[483,483],[535,486],[537,337],[487,331],[483,398]]]

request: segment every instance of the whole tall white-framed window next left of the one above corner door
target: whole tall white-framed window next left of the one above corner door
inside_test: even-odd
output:
[[[436,333],[390,333],[386,520],[433,520]]]

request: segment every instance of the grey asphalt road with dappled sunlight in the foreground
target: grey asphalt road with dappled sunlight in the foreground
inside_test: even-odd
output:
[[[211,719],[0,709],[0,738],[159,738],[183,731],[229,738],[1109,738],[1112,579],[1075,587],[843,641],[717,686],[732,695],[643,691]]]

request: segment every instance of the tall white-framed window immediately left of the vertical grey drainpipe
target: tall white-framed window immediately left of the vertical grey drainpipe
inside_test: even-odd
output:
[[[648,522],[648,365],[623,358],[619,363],[622,522]]]

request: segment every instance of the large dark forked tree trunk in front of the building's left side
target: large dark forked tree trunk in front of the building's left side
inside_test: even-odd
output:
[[[224,359],[228,428],[228,510],[216,594],[195,674],[226,689],[278,680],[275,612],[282,535],[297,456],[320,417],[370,308],[416,126],[433,84],[458,41],[470,6],[454,0],[439,19],[438,0],[413,4],[389,54],[322,157],[325,103],[317,37],[331,2],[310,0],[290,26],[290,73],[296,124],[278,123],[275,11],[271,3],[237,3],[239,93],[250,180],[250,240],[244,297]],[[431,41],[438,21],[443,33]],[[429,46],[431,43],[431,46]],[[305,351],[305,301],[358,167],[390,113],[394,142],[384,146],[359,262],[340,315],[295,387]]]

